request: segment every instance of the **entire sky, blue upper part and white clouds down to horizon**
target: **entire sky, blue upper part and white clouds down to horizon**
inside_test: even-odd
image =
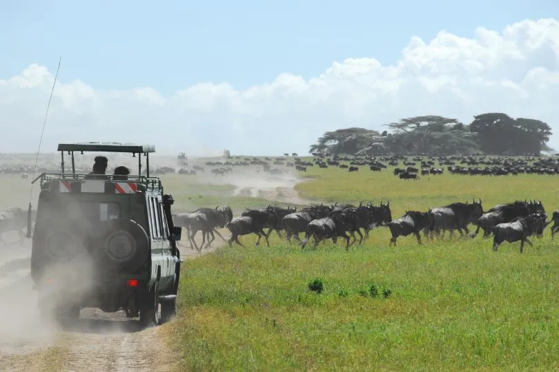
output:
[[[546,121],[559,149],[558,0],[19,0],[0,14],[5,152],[35,150],[59,56],[44,149],[304,154],[340,127],[482,112]]]

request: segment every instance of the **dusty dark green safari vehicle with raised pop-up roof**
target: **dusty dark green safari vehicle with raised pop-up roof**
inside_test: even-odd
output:
[[[78,318],[84,307],[124,310],[143,326],[175,314],[182,259],[173,225],[173,196],[150,177],[153,146],[120,143],[59,144],[59,174],[43,173],[32,236],[31,276],[39,309],[49,316]],[[138,175],[76,174],[74,153],[129,153]],[[64,155],[72,159],[66,172]],[[141,158],[146,158],[142,176]],[[108,156],[109,166],[112,169]],[[108,172],[107,172],[108,173]],[[159,315],[159,304],[161,313]]]

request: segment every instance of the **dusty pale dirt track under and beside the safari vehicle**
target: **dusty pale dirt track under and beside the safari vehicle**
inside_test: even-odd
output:
[[[223,243],[217,238],[202,254]],[[188,247],[181,251],[185,259],[199,255]],[[172,323],[142,330],[124,311],[98,309],[82,309],[79,320],[66,327],[41,322],[30,253],[28,241],[23,246],[0,245],[0,371],[172,370],[160,335]]]

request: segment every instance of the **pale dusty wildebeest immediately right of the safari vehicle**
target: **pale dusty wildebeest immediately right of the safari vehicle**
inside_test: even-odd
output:
[[[212,208],[199,208],[193,212],[175,214],[175,226],[185,227],[190,234],[188,234],[188,240],[190,244],[197,250],[202,251],[204,243],[206,242],[206,236],[208,236],[208,248],[215,240],[215,234],[225,240],[222,234],[219,234],[217,228],[225,227],[225,225],[233,219],[233,211],[231,207],[223,207],[222,210],[218,210],[219,206]],[[194,237],[198,231],[202,231],[202,245],[198,248]],[[211,238],[209,237],[211,236]]]

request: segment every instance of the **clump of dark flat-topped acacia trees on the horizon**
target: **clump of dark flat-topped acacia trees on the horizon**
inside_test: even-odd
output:
[[[385,125],[389,130],[382,133],[357,127],[326,132],[311,153],[537,155],[550,150],[547,123],[498,112],[474,116],[470,124],[429,115]]]

